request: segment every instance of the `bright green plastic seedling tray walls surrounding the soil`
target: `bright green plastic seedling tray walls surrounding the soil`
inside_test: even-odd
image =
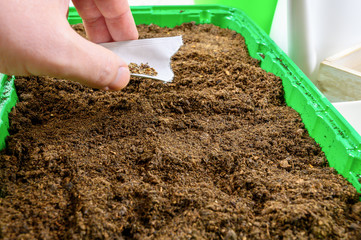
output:
[[[241,10],[219,5],[192,5],[132,7],[132,12],[136,24],[153,23],[162,27],[174,27],[194,21],[212,23],[242,34],[250,55],[261,61],[264,70],[282,79],[286,103],[301,115],[309,134],[325,152],[330,166],[361,192],[360,135],[288,56]],[[82,22],[74,8],[69,11],[69,22]],[[6,79],[4,76],[2,78]],[[12,86],[12,82],[9,83]],[[5,112],[10,108],[7,107]],[[5,115],[2,119],[6,120],[7,114]],[[7,121],[5,126],[7,127]],[[6,135],[7,133],[1,135],[1,146],[4,146],[3,138]]]

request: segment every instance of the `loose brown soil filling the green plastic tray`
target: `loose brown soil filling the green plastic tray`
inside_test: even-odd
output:
[[[16,80],[0,154],[4,239],[358,239],[361,203],[327,166],[281,80],[243,38],[211,25],[182,34],[175,79],[120,92]]]

